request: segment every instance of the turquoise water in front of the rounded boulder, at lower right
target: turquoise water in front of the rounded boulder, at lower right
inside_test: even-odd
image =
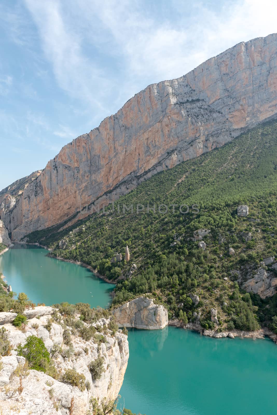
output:
[[[212,339],[175,327],[129,330],[120,391],[146,415],[277,413],[277,346],[270,340]]]

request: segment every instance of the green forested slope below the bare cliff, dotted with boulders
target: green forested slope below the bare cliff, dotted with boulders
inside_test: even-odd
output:
[[[170,316],[180,315],[185,322],[193,320],[197,311],[203,327],[212,327],[214,307],[219,330],[226,326],[254,330],[277,314],[277,296],[261,300],[239,291],[231,271],[241,270],[244,275],[250,268],[255,271],[263,258],[276,255],[276,195],[277,122],[270,122],[221,149],[158,173],[121,197],[114,212],[110,205],[109,214],[95,213],[62,232],[57,227],[33,232],[29,242],[47,244],[53,255],[83,261],[111,280],[126,276],[135,263],[138,268],[132,278],[117,283],[114,304],[151,293],[168,306]],[[123,214],[123,204],[133,204],[134,212]],[[147,213],[145,208],[136,213],[136,204],[155,204],[156,212]],[[167,213],[158,212],[160,204],[177,205],[175,213],[172,207]],[[180,213],[182,204],[190,207],[187,214]],[[248,217],[237,216],[241,204],[249,206]],[[192,205],[199,205],[198,213]],[[70,233],[80,225],[80,232]],[[193,240],[197,229],[211,230],[204,237],[204,251]],[[248,232],[252,240],[246,242]],[[65,249],[58,247],[61,239]],[[130,262],[111,264],[114,254],[121,252],[124,257],[126,245]],[[235,251],[233,256],[229,247]],[[200,298],[197,310],[189,298],[193,293]]]

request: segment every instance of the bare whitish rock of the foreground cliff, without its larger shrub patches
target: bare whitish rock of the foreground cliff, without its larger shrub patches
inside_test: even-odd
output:
[[[40,337],[49,352],[56,345],[53,360],[58,372],[63,374],[67,369],[74,368],[79,374],[85,376],[89,387],[85,391],[80,391],[78,387],[70,383],[63,383],[42,372],[30,370],[28,376],[22,377],[23,391],[19,395],[19,377],[14,374],[14,371],[19,369],[19,365],[24,364],[25,359],[17,356],[17,352],[12,350],[10,356],[4,356],[1,359],[0,408],[2,415],[10,415],[11,408],[16,408],[15,413],[22,415],[30,413],[68,415],[72,397],[74,397],[73,414],[83,415],[92,412],[91,398],[95,398],[99,403],[104,398],[108,401],[114,401],[117,398],[129,357],[127,336],[121,330],[113,335],[107,327],[109,318],[101,318],[93,323],[95,327],[100,327],[99,330],[104,336],[104,342],[99,343],[93,337],[89,341],[83,340],[75,334],[75,329],[66,327],[63,318],[60,324],[52,322],[51,329],[46,330],[44,326],[48,319],[49,316],[46,315],[40,319],[32,318],[27,321],[24,330],[18,330],[9,323],[2,327],[8,330],[10,343],[14,348],[18,343],[23,345],[30,335]],[[68,346],[63,342],[64,330],[71,331],[71,352],[67,351]],[[90,362],[97,357],[104,359],[104,371],[100,379],[95,379],[88,368]]]

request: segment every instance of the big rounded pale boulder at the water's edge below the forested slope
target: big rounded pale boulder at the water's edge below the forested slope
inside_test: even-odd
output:
[[[113,310],[115,320],[120,327],[156,330],[168,325],[168,311],[153,300],[139,297]]]

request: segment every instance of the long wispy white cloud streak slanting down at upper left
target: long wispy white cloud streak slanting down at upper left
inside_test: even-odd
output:
[[[67,9],[63,10],[59,1],[25,0],[25,4],[36,23],[44,53],[51,62],[59,86],[71,97],[103,110],[97,92],[92,88],[104,83],[101,69],[83,54],[74,17],[66,22]]]

